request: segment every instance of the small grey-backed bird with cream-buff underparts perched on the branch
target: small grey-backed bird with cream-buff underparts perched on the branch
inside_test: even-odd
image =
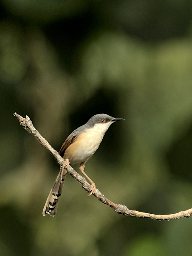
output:
[[[42,215],[49,214],[54,217],[57,212],[58,200],[62,194],[63,185],[67,175],[68,165],[79,165],[79,170],[91,184],[90,194],[96,192],[93,180],[84,172],[85,164],[96,152],[102,142],[105,132],[113,122],[124,120],[123,118],[109,116],[107,114],[96,114],[92,116],[85,125],[76,128],[62,144],[59,150],[60,156],[65,159],[65,166],[60,169],[53,187],[45,202]]]

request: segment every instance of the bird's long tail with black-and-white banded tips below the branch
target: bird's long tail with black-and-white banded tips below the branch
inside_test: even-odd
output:
[[[45,206],[42,210],[43,216],[49,214],[50,216],[54,217],[56,215],[59,197],[62,194],[62,189],[66,176],[66,169],[61,169],[48,195],[47,201],[45,202]]]

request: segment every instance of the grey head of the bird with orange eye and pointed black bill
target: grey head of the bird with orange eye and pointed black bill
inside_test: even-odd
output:
[[[119,118],[119,117],[113,117],[113,116],[109,116],[107,114],[97,114],[92,116],[88,122],[86,123],[86,126],[88,126],[89,128],[94,127],[95,125],[103,125],[105,127],[107,127],[107,129],[109,128],[109,126],[116,121],[120,121],[120,120],[124,120],[123,118]]]

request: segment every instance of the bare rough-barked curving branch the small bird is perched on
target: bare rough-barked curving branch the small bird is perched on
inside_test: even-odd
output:
[[[40,144],[43,145],[56,159],[57,163],[60,167],[62,167],[65,163],[65,160],[59,155],[59,153],[51,147],[51,145],[48,143],[47,140],[45,140],[44,137],[34,128],[34,125],[29,118],[29,116],[23,117],[17,114],[16,112],[13,114],[17,117],[17,119],[20,122],[20,125],[23,126],[23,128],[28,131],[29,133],[33,134],[37,140],[39,140]],[[68,173],[73,177],[73,179],[77,180],[79,183],[81,183],[82,187],[87,191],[90,192],[90,184],[85,180],[84,177],[79,175],[70,165],[66,168]],[[119,214],[123,214],[125,216],[136,216],[140,218],[151,218],[154,220],[172,220],[172,219],[179,219],[179,218],[189,218],[192,214],[192,208],[177,212],[174,214],[166,214],[166,215],[160,215],[160,214],[151,214],[147,212],[138,212],[135,210],[130,210],[125,205],[121,204],[115,204],[109,199],[107,199],[100,191],[99,189],[96,189],[96,192],[94,193],[94,196],[101,201],[103,204],[107,204],[109,207],[111,207],[115,212],[118,212]]]

